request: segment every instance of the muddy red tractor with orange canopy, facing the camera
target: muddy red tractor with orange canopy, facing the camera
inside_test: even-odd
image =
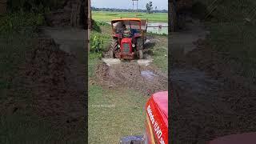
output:
[[[110,58],[132,60],[137,55],[139,59],[142,59],[147,20],[118,18],[111,21],[111,26],[113,40],[109,50]]]

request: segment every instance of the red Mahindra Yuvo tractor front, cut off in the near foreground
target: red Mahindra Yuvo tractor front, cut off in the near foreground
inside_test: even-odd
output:
[[[146,102],[146,133],[144,136],[121,138],[120,144],[168,143],[168,92],[152,94]]]

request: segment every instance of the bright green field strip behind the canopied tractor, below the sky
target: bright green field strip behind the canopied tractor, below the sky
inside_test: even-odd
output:
[[[149,22],[168,22],[167,13],[129,13],[129,12],[109,12],[109,11],[92,11],[92,18],[96,21],[111,22],[114,18],[148,18]]]

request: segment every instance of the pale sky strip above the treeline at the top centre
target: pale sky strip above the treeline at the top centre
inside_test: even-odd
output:
[[[168,10],[168,0],[138,0],[138,9],[146,9],[146,3],[151,1],[153,7],[158,6],[158,10]],[[119,8],[119,9],[133,9],[133,2],[131,0],[91,0],[91,6],[97,8]],[[136,9],[136,2],[134,2],[134,9]]]

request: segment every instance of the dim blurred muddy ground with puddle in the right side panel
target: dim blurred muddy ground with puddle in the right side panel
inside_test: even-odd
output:
[[[192,22],[187,26],[194,30],[174,34],[175,38],[186,37],[186,41],[171,43],[174,141],[206,143],[226,134],[255,131],[256,89],[223,63],[225,55],[202,40],[197,31],[202,24]],[[189,40],[186,34],[194,37]],[[190,49],[185,53],[186,47]]]

